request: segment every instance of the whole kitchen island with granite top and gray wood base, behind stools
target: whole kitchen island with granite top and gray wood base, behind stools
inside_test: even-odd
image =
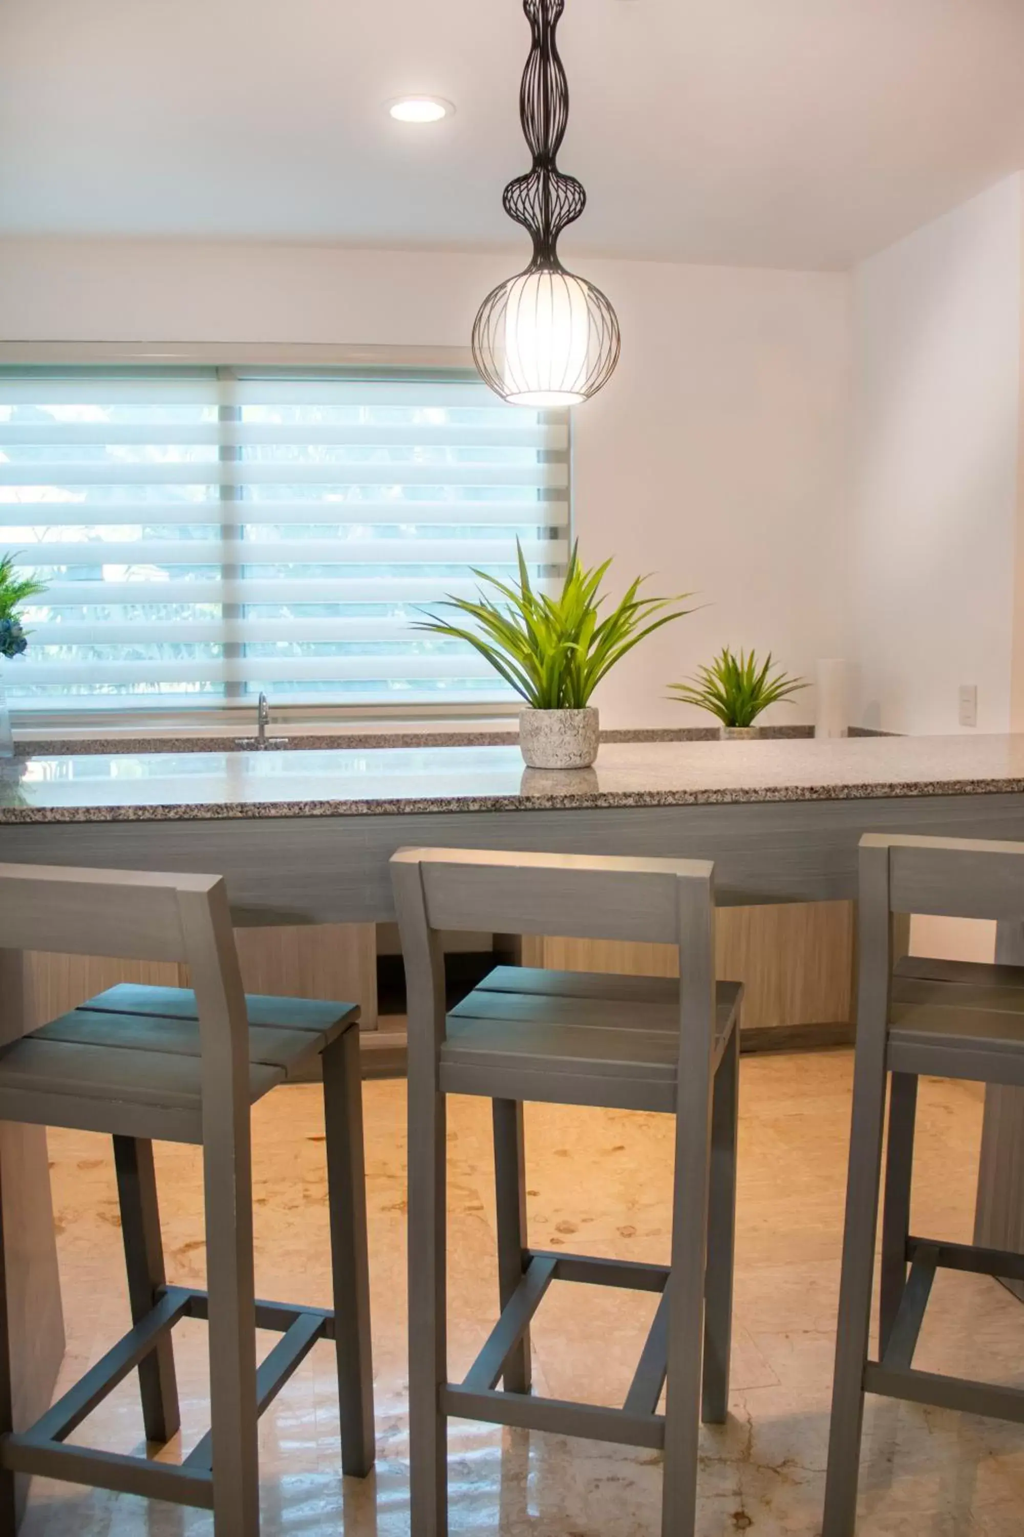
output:
[[[524,770],[514,747],[92,752],[15,759],[0,778],[3,861],[223,873],[238,925],[391,919],[388,859],[418,844],[714,859],[726,907],[840,901],[864,832],[1024,841],[1024,736],[609,742],[570,773]],[[3,985],[11,1039],[11,953]],[[1019,1157],[1009,1093],[986,1131],[979,1240],[1024,1248],[1001,1199]],[[32,1128],[15,1137],[5,1210],[32,1263],[28,1413],[52,1385],[58,1290],[45,1148]]]

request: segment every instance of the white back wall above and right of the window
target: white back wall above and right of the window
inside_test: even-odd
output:
[[[514,257],[9,241],[0,338],[465,346]],[[599,695],[606,725],[695,724],[665,684],[720,647],[812,673],[846,636],[849,284],[840,274],[580,263],[613,298],[619,370],[574,413],[576,527],[619,584],[708,604]],[[811,695],[778,721],[812,718]]]

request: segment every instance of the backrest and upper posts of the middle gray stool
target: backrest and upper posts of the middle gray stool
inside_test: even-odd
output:
[[[444,1041],[441,930],[633,939],[679,947],[680,1030],[714,1045],[714,865],[703,859],[399,848],[391,885],[408,988],[408,1048]]]

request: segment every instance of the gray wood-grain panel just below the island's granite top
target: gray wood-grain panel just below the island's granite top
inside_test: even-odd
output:
[[[391,919],[387,862],[404,845],[714,859],[720,905],[838,901],[857,895],[864,832],[1024,839],[1024,793],[14,825],[0,812],[0,853],[29,864],[223,873],[236,924],[278,925]]]

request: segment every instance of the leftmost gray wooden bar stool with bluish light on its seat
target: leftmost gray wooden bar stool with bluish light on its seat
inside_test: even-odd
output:
[[[319,1339],[338,1354],[342,1468],[361,1477],[373,1465],[358,1008],[247,999],[218,876],[0,865],[0,945],[178,961],[192,981],[114,987],[0,1051],[0,1119],[112,1134],[132,1311],[129,1333],[15,1434],[0,1233],[0,1537],[15,1531],[15,1472],[204,1506],[216,1537],[256,1537],[256,1419]],[[333,1311],[253,1297],[249,1110],[318,1053]],[[207,1291],[166,1283],[152,1139],[203,1148]],[[177,1432],[170,1330],[183,1317],[210,1323],[212,1429],[190,1456],[173,1465],[68,1445],[132,1371],[146,1439]],[[259,1369],[256,1328],[282,1336]]]

